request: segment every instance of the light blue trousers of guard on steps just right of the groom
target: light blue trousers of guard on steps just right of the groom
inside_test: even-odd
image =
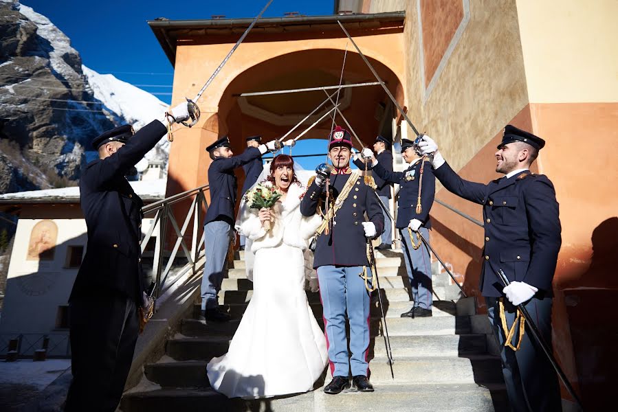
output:
[[[429,229],[421,227],[419,232],[429,242]],[[401,234],[401,244],[404,250],[406,271],[408,271],[408,279],[410,279],[410,286],[412,287],[414,306],[431,310],[433,297],[431,292],[431,259],[429,257],[429,250],[425,244],[421,244],[421,247],[417,250],[412,247],[407,227],[399,229],[399,233]],[[414,232],[412,232],[412,236],[416,244],[417,236]],[[419,241],[422,242],[420,238]]]

